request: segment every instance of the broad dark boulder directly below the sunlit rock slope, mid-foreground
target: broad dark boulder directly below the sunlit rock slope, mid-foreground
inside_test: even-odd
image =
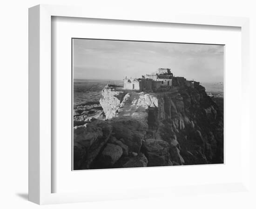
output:
[[[109,122],[113,126],[113,134],[128,146],[129,152],[139,153],[148,124],[132,117],[112,118]]]

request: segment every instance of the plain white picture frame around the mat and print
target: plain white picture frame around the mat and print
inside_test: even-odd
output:
[[[38,5],[29,8],[29,201],[37,204],[85,202],[154,196],[162,194],[182,193],[182,189],[155,188],[147,192],[129,190],[128,195],[120,193],[116,196],[103,196],[79,193],[52,193],[52,161],[51,154],[51,17],[76,17],[108,20],[134,20],[142,22],[194,24],[209,26],[241,27],[242,34],[242,89],[243,114],[241,114],[241,129],[247,130],[249,125],[249,19],[220,16],[194,16],[179,14],[155,13],[126,13],[125,11],[92,11],[84,7],[67,7],[53,5]],[[249,134],[249,131],[248,131]],[[231,192],[249,189],[249,136],[244,137],[241,144],[242,176],[240,182],[216,185],[198,185],[187,187],[186,192],[202,189],[204,192]],[[186,193],[185,192],[185,193]],[[143,194],[143,195],[141,195]]]

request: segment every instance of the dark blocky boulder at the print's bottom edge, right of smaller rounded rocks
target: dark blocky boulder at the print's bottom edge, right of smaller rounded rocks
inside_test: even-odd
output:
[[[146,139],[143,141],[141,150],[148,159],[148,166],[172,165],[169,155],[169,144],[162,139]]]

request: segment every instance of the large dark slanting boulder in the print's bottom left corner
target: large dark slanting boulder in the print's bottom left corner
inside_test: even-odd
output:
[[[108,122],[94,119],[74,128],[74,170],[89,169],[112,132]]]

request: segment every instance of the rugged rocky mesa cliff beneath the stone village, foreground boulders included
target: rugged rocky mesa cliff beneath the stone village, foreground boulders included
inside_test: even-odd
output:
[[[205,89],[102,90],[105,120],[74,127],[74,169],[223,163],[222,108]]]

